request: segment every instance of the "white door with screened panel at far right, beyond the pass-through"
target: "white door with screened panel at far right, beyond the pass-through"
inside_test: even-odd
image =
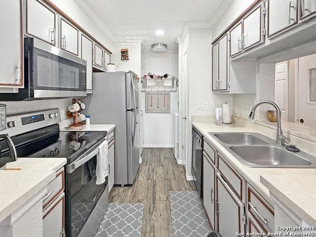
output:
[[[299,58],[298,123],[315,126],[316,54]]]

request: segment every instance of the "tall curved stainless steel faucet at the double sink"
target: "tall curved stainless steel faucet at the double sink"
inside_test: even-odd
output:
[[[284,137],[282,129],[281,129],[281,112],[280,109],[278,108],[278,106],[276,105],[276,103],[270,101],[270,100],[262,100],[257,102],[253,107],[252,110],[249,114],[249,118],[250,119],[254,119],[255,118],[255,110],[257,109],[257,107],[259,105],[262,104],[269,104],[272,105],[273,107],[275,107],[276,109],[276,124],[277,124],[277,129],[276,129],[276,144],[281,145],[281,146],[285,146],[285,143],[289,144],[290,143],[290,139],[287,137]]]

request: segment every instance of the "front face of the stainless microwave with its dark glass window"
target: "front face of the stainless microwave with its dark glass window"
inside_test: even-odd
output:
[[[34,98],[86,96],[86,62],[34,40],[30,55]]]

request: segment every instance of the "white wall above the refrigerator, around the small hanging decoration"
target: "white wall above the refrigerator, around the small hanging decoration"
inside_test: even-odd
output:
[[[129,60],[120,60],[121,48],[128,48]],[[140,43],[116,43],[114,44],[111,56],[111,63],[116,65],[117,71],[133,71],[138,76],[141,75],[141,44]]]

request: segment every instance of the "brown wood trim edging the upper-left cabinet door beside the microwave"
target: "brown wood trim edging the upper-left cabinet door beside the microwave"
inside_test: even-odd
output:
[[[0,83],[5,86],[23,86],[24,85],[24,14],[23,14],[23,0],[20,0],[20,84],[14,83]],[[13,88],[13,87],[12,87]]]

